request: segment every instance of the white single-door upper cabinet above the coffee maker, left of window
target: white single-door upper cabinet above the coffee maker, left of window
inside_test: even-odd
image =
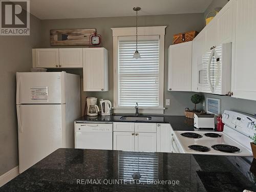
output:
[[[83,48],[83,91],[109,91],[108,50]]]

